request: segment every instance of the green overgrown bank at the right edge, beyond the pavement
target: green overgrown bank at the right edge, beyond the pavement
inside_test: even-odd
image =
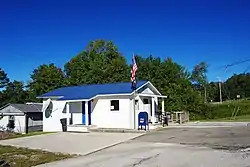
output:
[[[230,118],[234,115],[250,115],[249,101],[236,101],[223,104],[206,104],[196,112],[190,112],[191,120]]]

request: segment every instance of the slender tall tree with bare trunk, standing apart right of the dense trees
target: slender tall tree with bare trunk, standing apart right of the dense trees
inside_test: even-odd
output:
[[[194,69],[192,71],[191,80],[194,82],[194,84],[197,86],[198,89],[203,88],[204,89],[204,102],[207,102],[207,90],[206,86],[208,84],[207,79],[207,68],[208,65],[206,62],[201,62],[194,66]]]

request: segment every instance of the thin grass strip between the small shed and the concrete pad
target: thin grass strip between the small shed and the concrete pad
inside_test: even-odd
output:
[[[30,132],[28,134],[18,134],[18,133],[6,133],[6,132],[0,132],[0,140],[7,140],[7,139],[14,139],[19,137],[27,137],[27,136],[35,136],[35,135],[42,135],[42,134],[48,134],[52,132]]]

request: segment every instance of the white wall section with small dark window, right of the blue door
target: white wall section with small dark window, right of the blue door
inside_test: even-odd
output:
[[[119,100],[119,111],[110,110],[110,101]],[[131,125],[132,110],[129,96],[109,96],[96,98],[91,113],[92,125],[99,128],[133,128]]]

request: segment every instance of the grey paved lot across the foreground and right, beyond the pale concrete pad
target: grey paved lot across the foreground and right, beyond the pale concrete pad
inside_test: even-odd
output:
[[[164,129],[92,155],[46,166],[250,167],[250,151],[246,149],[250,145],[249,132],[244,127]],[[221,145],[224,149],[215,149]]]

